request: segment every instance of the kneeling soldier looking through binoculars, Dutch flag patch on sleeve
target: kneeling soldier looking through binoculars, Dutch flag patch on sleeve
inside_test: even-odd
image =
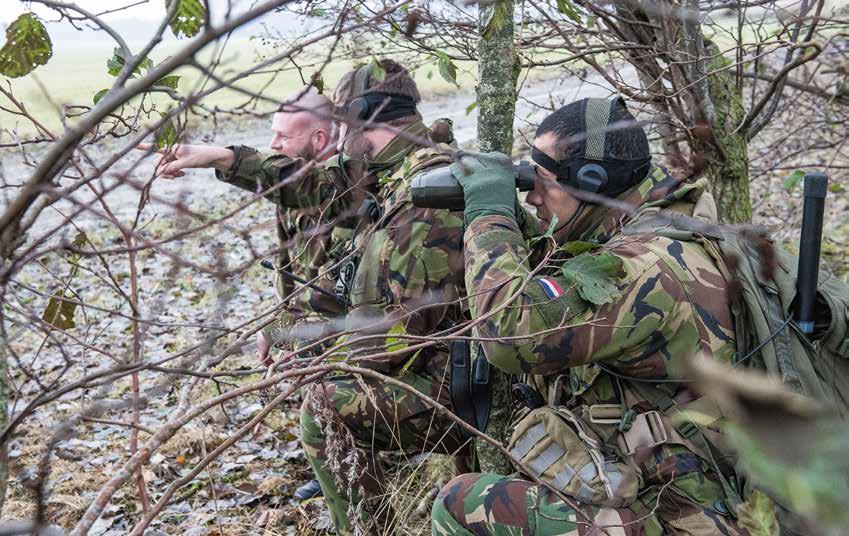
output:
[[[532,157],[527,199],[553,230],[533,242],[543,245],[536,261],[517,224],[509,160],[466,156],[452,173],[464,190],[465,278],[472,317],[485,318],[486,358],[523,380],[514,392],[528,407],[508,449],[559,494],[523,477],[462,475],[436,499],[433,533],[740,533],[739,483],[711,426],[719,416],[676,379],[697,354],[733,359],[726,281],[703,243],[641,224],[673,213],[715,221],[706,181],[652,166],[621,99],[551,114]],[[707,422],[671,418],[684,411]]]

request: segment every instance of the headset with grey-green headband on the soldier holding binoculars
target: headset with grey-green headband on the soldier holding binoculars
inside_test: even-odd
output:
[[[583,154],[557,162],[536,147],[531,149],[531,158],[541,167],[554,173],[557,180],[572,188],[592,193],[616,195],[645,177],[651,166],[651,156],[639,160],[605,158],[605,138],[611,110],[616,104],[625,105],[621,97],[616,99],[587,99],[584,111],[584,133],[586,139]],[[637,164],[636,167],[634,165]],[[624,188],[623,188],[624,186]]]

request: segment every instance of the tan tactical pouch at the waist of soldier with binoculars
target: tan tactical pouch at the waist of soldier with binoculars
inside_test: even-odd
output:
[[[562,406],[543,406],[519,421],[507,449],[534,476],[582,503],[627,506],[637,497],[637,471],[621,461],[605,460],[601,445],[574,413]]]

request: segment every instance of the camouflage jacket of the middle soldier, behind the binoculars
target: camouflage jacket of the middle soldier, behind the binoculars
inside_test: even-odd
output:
[[[389,352],[364,366],[387,372],[414,370],[442,376],[447,346],[405,351],[416,344],[401,335],[431,335],[463,316],[463,215],[414,207],[412,178],[448,165],[444,151],[410,146],[404,159],[380,174],[381,215],[355,237],[359,259],[350,288],[351,309],[342,341],[349,355]],[[363,339],[366,337],[365,339]]]

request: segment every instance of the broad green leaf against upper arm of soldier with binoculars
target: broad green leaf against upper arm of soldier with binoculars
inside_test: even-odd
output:
[[[578,289],[584,300],[603,305],[619,295],[616,283],[624,275],[622,259],[610,252],[584,253],[563,264],[563,276]]]

